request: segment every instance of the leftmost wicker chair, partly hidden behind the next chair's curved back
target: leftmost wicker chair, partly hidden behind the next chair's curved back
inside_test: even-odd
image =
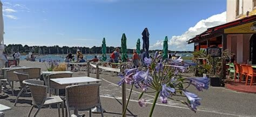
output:
[[[6,71],[6,79],[10,84],[12,95],[14,96],[14,81],[19,81],[18,76],[14,71],[23,71],[23,69],[10,69]]]

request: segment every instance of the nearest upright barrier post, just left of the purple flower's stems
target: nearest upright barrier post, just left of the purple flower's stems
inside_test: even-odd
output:
[[[124,65],[122,65],[121,67],[121,72],[122,74],[124,73]],[[126,106],[126,85],[125,83],[123,83],[122,85],[122,106],[123,106],[123,113],[124,113],[124,116],[126,116],[126,109],[125,109],[125,106]]]

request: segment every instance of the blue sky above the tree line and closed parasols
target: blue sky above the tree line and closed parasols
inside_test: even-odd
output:
[[[168,36],[170,50],[193,50],[193,44],[186,45],[185,40],[205,30],[205,26],[226,20],[224,0],[2,0],[2,3],[4,43],[30,46],[92,47],[100,46],[105,37],[107,46],[117,47],[125,33],[127,47],[134,48],[138,38],[142,42],[141,33],[147,27],[150,49],[162,49],[162,41]],[[207,18],[215,14],[219,14],[212,18],[215,24],[207,25],[213,23]],[[200,21],[205,26],[197,26]],[[190,33],[192,28],[196,32]]]

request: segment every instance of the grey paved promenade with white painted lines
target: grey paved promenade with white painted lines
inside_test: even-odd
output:
[[[21,65],[38,66],[42,70],[46,70],[45,65],[39,62],[22,61]],[[86,76],[86,72],[75,72],[73,76]],[[95,74],[90,74],[91,77],[96,77]],[[187,76],[187,75],[186,75]],[[104,116],[122,116],[122,93],[121,87],[117,86],[119,78],[111,76],[110,73],[100,74],[102,85],[100,86],[100,100],[102,106],[106,110]],[[18,83],[15,84],[16,94],[18,93]],[[9,86],[8,86],[9,87]],[[126,95],[130,92],[130,86],[126,85]],[[153,116],[256,116],[255,104],[256,94],[235,92],[225,87],[212,87],[206,91],[198,92],[194,87],[190,87],[191,92],[196,92],[203,100],[199,106],[197,113],[190,111],[181,103],[169,100],[168,104],[161,104],[160,99],[157,102]],[[140,107],[138,105],[138,96],[140,90],[135,89],[132,92],[131,100],[129,103],[129,111],[127,116],[148,116],[153,101],[154,93],[144,94],[143,98],[148,102],[147,107]],[[11,94],[10,91],[6,92]],[[9,96],[5,99],[0,99],[0,104],[11,107],[10,111],[5,112],[5,116],[27,116],[31,107],[30,93],[22,94],[19,98],[17,106],[14,105],[15,96]],[[180,97],[177,97],[180,99]],[[184,99],[184,98],[183,98]],[[35,113],[33,110],[32,114]],[[88,112],[85,113],[89,116]],[[39,111],[38,116],[58,116],[57,107],[45,107]],[[92,116],[100,116],[100,114],[92,114]]]

